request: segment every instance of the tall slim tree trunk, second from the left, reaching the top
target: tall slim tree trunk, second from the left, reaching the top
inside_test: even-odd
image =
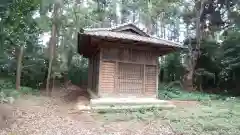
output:
[[[57,43],[57,15],[58,15],[59,4],[54,4],[54,11],[53,11],[53,21],[52,21],[52,31],[51,31],[51,38],[49,43],[49,65],[48,65],[48,76],[47,76],[47,84],[46,84],[46,91],[47,95],[50,96],[51,88],[50,88],[50,81],[52,77],[52,66],[54,60],[54,51],[56,48]]]

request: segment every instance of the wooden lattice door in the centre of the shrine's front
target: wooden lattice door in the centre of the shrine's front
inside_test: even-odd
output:
[[[118,63],[117,92],[140,95],[143,92],[143,65]]]

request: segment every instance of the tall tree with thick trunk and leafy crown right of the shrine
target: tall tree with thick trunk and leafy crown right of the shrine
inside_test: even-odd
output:
[[[190,12],[184,15],[187,29],[195,30],[195,37],[188,36],[187,44],[189,48],[187,59],[187,73],[185,76],[185,87],[188,90],[193,89],[194,75],[197,73],[197,63],[202,54],[201,44],[204,39],[215,39],[216,33],[226,27],[232,26],[229,19],[229,14],[232,9],[236,10],[237,1],[235,0],[196,0],[193,3],[194,8],[190,8]],[[227,17],[226,17],[227,16]],[[194,22],[194,23],[192,23]],[[229,25],[230,24],[230,25]],[[188,32],[192,35],[191,32]],[[194,40],[192,40],[194,39]],[[193,42],[194,43],[193,43]]]

